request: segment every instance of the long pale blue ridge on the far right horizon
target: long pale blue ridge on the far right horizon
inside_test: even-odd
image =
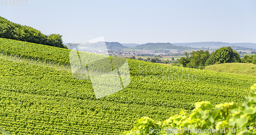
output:
[[[174,45],[195,47],[195,48],[211,48],[218,49],[223,46],[237,46],[256,49],[256,43],[225,43],[225,42],[194,42],[194,43],[173,43]]]

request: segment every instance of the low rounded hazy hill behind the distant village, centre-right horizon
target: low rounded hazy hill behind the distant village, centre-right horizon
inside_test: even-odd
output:
[[[176,49],[176,50],[188,50],[188,49],[195,49],[191,47],[182,47],[182,46],[177,46],[173,45],[171,43],[146,43],[142,44],[136,47],[129,47],[127,50],[165,50],[165,49]]]

